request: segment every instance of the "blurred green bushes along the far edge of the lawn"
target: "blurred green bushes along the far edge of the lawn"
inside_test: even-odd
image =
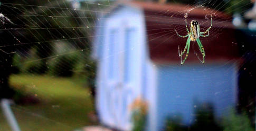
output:
[[[55,76],[75,77],[88,80],[88,86],[94,86],[96,64],[89,58],[90,52],[77,50],[69,42],[54,43],[52,55],[41,59],[40,47],[33,47],[27,55],[15,53],[13,57],[14,73],[42,74],[49,72]]]

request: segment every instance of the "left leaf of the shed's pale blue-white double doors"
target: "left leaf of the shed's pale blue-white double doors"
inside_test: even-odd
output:
[[[120,29],[110,27],[108,29],[108,62],[107,62],[107,112],[109,123],[113,126],[121,125],[121,104],[122,104],[122,64],[120,57]]]

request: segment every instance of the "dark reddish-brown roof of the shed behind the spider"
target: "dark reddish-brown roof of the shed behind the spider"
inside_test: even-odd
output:
[[[146,21],[147,42],[151,60],[155,63],[179,63],[178,46],[181,50],[186,45],[187,38],[176,35],[174,29],[180,35],[186,35],[185,13],[188,13],[187,24],[192,19],[200,23],[201,31],[205,31],[211,25],[210,15],[213,15],[213,27],[210,36],[200,37],[205,48],[205,62],[226,62],[239,57],[238,45],[236,45],[232,17],[202,6],[186,5],[162,5],[146,2],[122,3],[143,9]],[[207,17],[207,18],[206,18]],[[191,41],[189,56],[185,63],[200,63],[196,55],[200,54],[196,42]],[[185,56],[185,55],[184,55]],[[183,58],[184,58],[183,56]]]

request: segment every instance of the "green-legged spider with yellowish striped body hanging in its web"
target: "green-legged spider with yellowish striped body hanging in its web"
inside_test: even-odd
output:
[[[189,32],[189,31],[188,31],[188,28],[187,28],[187,17],[186,17],[186,16],[185,16],[185,22],[186,22],[186,29],[187,29],[187,35],[186,35],[186,36],[178,35],[178,32],[177,32],[176,29],[175,29],[175,31],[176,31],[176,33],[177,33],[177,35],[178,35],[179,37],[183,37],[183,38],[188,37],[188,38],[187,38],[187,42],[186,42],[186,46],[185,46],[185,48],[184,48],[184,50],[182,51],[181,54],[179,53],[179,47],[178,47],[179,57],[181,57],[181,64],[184,64],[185,60],[186,60],[187,57],[188,57],[190,41],[195,41],[195,40],[196,40],[197,45],[198,45],[198,47],[199,47],[199,49],[200,49],[200,51],[201,51],[201,53],[202,53],[202,55],[203,55],[203,61],[200,60],[198,56],[197,56],[197,57],[198,57],[198,59],[199,59],[202,63],[204,63],[205,52],[204,52],[204,48],[203,48],[203,45],[202,45],[202,43],[201,43],[199,37],[200,37],[200,36],[202,36],[202,37],[207,37],[207,36],[209,36],[209,30],[212,28],[212,15],[211,15],[211,26],[210,26],[206,31],[204,31],[204,32],[200,32],[200,26],[199,26],[199,23],[198,23],[196,20],[192,20],[192,21],[191,21],[191,23],[190,23],[190,32]],[[207,35],[203,35],[203,34],[206,34],[207,32],[208,32]],[[184,60],[182,61],[182,55],[185,53],[186,50],[187,50],[186,56],[185,56]],[[196,55],[197,55],[197,54],[196,54]]]

